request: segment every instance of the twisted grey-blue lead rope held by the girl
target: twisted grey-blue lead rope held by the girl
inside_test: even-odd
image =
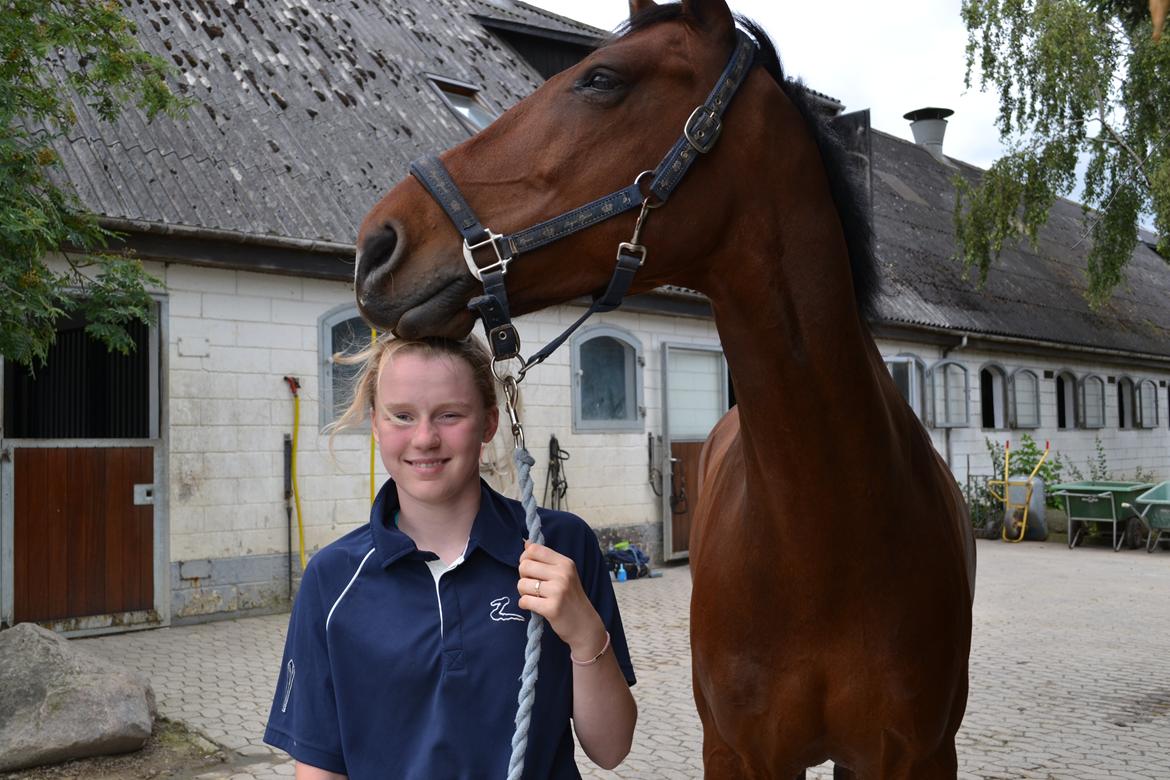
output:
[[[491,361],[491,371],[496,371],[497,361]],[[534,544],[544,544],[544,531],[541,530],[541,516],[536,512],[536,497],[532,493],[532,464],[536,461],[524,446],[524,428],[516,412],[518,393],[517,380],[511,374],[496,378],[504,388],[504,408],[511,421],[512,436],[516,439],[516,450],[512,461],[516,463],[516,478],[519,482],[519,503],[524,506],[524,522],[528,525],[528,538]],[[544,617],[530,613],[528,621],[528,643],[524,646],[524,669],[519,675],[519,696],[516,704],[516,731],[512,732],[512,752],[508,759],[508,780],[521,780],[524,773],[524,754],[528,751],[528,731],[532,723],[532,703],[536,700],[537,667],[541,663],[541,639],[544,636]]]

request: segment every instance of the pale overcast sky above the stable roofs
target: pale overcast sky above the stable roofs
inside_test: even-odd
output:
[[[626,0],[528,0],[564,16],[613,29]],[[878,130],[913,138],[902,115],[923,106],[952,109],[943,152],[979,167],[999,154],[997,98],[978,82],[963,87],[966,30],[961,0],[731,0],[772,37],[785,74],[845,104],[869,109]]]

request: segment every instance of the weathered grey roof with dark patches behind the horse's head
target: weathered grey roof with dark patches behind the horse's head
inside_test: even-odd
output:
[[[514,16],[565,30],[518,2]],[[131,0],[143,46],[194,106],[115,124],[77,102],[58,151],[90,210],[250,235],[352,243],[412,159],[470,133],[428,75],[481,88],[497,112],[541,77],[473,19],[487,0]]]

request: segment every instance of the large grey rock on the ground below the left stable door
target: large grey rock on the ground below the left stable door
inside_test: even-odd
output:
[[[150,684],[34,623],[0,631],[0,772],[138,750]]]

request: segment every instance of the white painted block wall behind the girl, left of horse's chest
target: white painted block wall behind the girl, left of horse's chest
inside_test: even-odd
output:
[[[367,519],[369,437],[340,434],[329,450],[319,430],[318,320],[352,302],[349,284],[246,271],[153,264],[170,298],[165,378],[170,410],[171,559],[235,558],[287,550],[283,436],[292,400],[283,381],[301,380],[297,475],[305,548],[311,552]],[[518,323],[525,354],[556,337],[581,309],[563,306]],[[642,341],[645,429],[572,433],[567,344],[532,370],[522,387],[523,420],[538,498],[549,436],[571,453],[567,506],[596,527],[656,522],[647,481],[647,432],[661,434],[661,343],[715,345],[714,324],[631,312],[599,315]],[[501,426],[496,451],[510,461]],[[377,482],[385,479],[380,461]],[[511,474],[495,479],[516,495]]]

